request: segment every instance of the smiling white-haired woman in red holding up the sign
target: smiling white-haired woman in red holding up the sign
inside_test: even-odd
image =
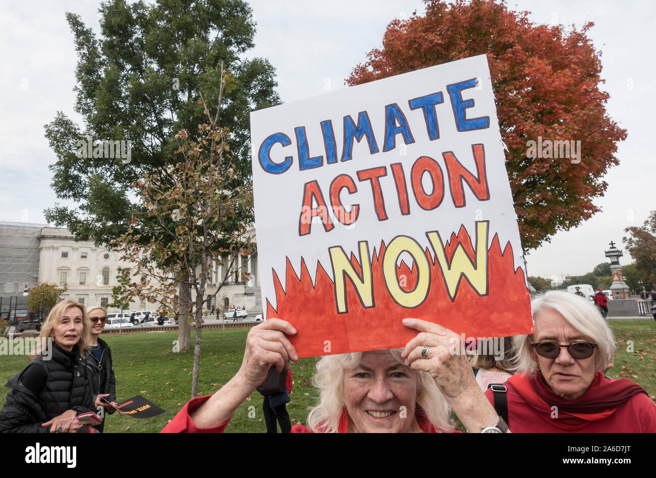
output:
[[[460,337],[423,320],[407,318],[403,324],[419,331],[405,349],[321,358],[315,376],[319,403],[308,426],[295,425],[292,433],[451,431],[451,409],[469,431],[507,431],[474,380],[466,355],[453,353]],[[289,360],[298,360],[287,338],[296,333],[277,318],[252,328],[236,376],[214,395],[192,399],[162,431],[223,431],[270,366],[281,371]]]

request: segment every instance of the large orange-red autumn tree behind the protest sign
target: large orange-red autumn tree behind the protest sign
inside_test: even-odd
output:
[[[491,0],[426,0],[424,16],[390,22],[382,49],[346,79],[359,85],[486,54],[524,250],[600,210],[592,200],[604,195],[602,178],[619,163],[617,142],[626,139],[606,114],[600,53],[586,36],[592,22],[566,30],[533,24],[527,13]],[[527,156],[527,142],[539,137],[581,141],[580,162]]]

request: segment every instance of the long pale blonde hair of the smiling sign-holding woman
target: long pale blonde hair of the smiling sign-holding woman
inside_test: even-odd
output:
[[[400,364],[403,349],[388,349]],[[339,419],[344,407],[344,370],[356,368],[362,360],[363,352],[327,355],[321,357],[314,374],[314,386],[319,389],[319,403],[308,414],[308,427],[313,431],[337,433]],[[455,428],[451,421],[451,406],[441,394],[435,380],[427,372],[417,371],[417,403],[426,412],[428,421],[438,430],[450,431]]]

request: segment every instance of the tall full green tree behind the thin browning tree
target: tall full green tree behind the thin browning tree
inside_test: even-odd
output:
[[[146,173],[157,174],[163,185],[174,185],[174,134],[195,131],[204,122],[199,91],[207,104],[217,104],[222,64],[232,72],[235,86],[226,92],[222,110],[234,153],[234,174],[226,186],[249,181],[249,112],[277,104],[279,97],[269,62],[245,57],[255,35],[245,1],[111,0],[100,6],[99,37],[76,14],[68,13],[66,19],[79,58],[74,110],[84,124],[58,112],[45,127],[57,157],[51,165],[52,187],[58,198],[77,204],[47,209],[49,222],[68,227],[77,240],[93,238],[98,245],[125,234],[133,214],[146,212],[131,185]],[[119,158],[107,157],[109,148],[104,154],[92,147],[89,155],[83,146],[98,141],[125,141],[125,149]],[[248,209],[238,212],[246,215],[239,218],[243,221],[252,214]],[[134,223],[131,230],[142,244],[154,237],[168,240],[155,217]],[[186,274],[183,270],[180,277]],[[186,284],[188,280],[182,282],[180,295],[190,301]],[[181,350],[190,349],[184,320],[178,341]]]

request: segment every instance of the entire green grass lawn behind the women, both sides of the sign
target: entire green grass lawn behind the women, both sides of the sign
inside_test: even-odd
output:
[[[656,322],[609,322],[618,341],[615,366],[607,372],[613,378],[628,378],[640,383],[652,400],[656,399]],[[199,395],[214,393],[239,369],[249,329],[204,330],[201,351]],[[143,395],[166,414],[149,420],[136,420],[113,414],[106,420],[108,433],[158,432],[190,399],[193,352],[173,353],[176,332],[146,332],[102,337],[112,347],[118,399]],[[632,351],[630,345],[632,341]],[[628,347],[628,351],[627,351]],[[310,383],[316,358],[302,358],[292,365],[294,388],[287,410],[292,424],[305,424],[308,407],[317,393]],[[26,366],[24,356],[0,357],[0,383],[5,384]],[[0,406],[8,389],[0,392]],[[255,418],[249,418],[250,410]],[[252,415],[252,413],[251,413]],[[254,392],[234,413],[226,432],[266,431],[262,414],[262,396]]]

